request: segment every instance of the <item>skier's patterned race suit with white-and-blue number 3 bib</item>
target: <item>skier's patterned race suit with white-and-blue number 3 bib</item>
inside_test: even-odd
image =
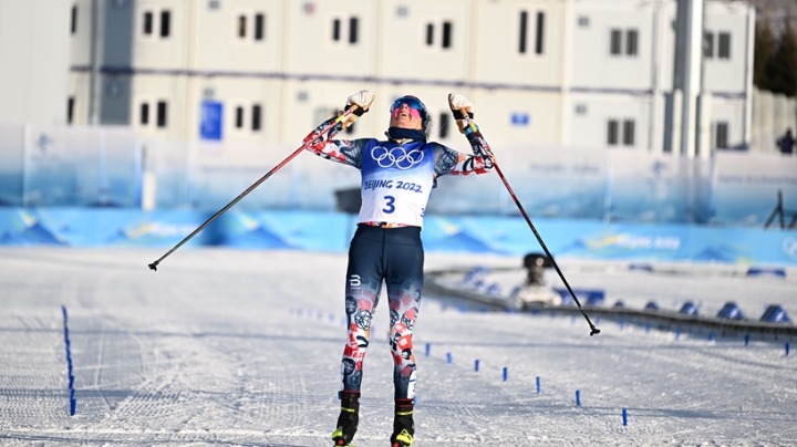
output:
[[[334,118],[321,124],[321,132]],[[341,364],[342,389],[360,391],[371,320],[382,282],[390,305],[390,345],[395,364],[396,398],[415,396],[412,334],[421,304],[424,252],[423,216],[436,178],[446,174],[485,174],[493,163],[468,134],[475,155],[438,143],[331,139],[337,125],[308,150],[361,170],[362,206],[349,248],[345,312],[349,337]]]

